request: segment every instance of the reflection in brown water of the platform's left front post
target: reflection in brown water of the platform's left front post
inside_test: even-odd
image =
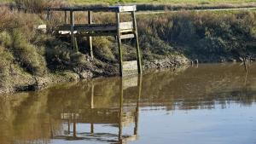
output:
[[[122,124],[122,118],[123,118],[123,96],[124,96],[124,89],[123,89],[123,79],[120,78],[120,84],[119,84],[119,141],[122,141],[122,135],[123,135],[123,124]]]

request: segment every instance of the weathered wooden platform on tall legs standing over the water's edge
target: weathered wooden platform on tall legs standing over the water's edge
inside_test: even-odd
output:
[[[113,36],[117,38],[119,47],[119,74],[123,76],[123,55],[122,55],[122,39],[135,38],[137,49],[137,72],[142,73],[142,61],[138,43],[137,35],[137,20],[135,11],[137,7],[132,6],[110,6],[110,7],[61,7],[61,8],[49,8],[47,11],[47,19],[50,20],[51,13],[53,11],[59,11],[64,13],[65,24],[56,26],[55,32],[58,34],[67,34],[71,36],[71,43],[73,49],[78,51],[76,37],[87,37],[90,56],[93,58],[93,43],[91,37],[96,36]],[[88,23],[87,24],[75,24],[74,13],[75,12],[87,12]],[[116,22],[113,24],[95,24],[93,23],[93,13],[96,12],[113,12],[116,15]],[[121,13],[130,13],[132,21],[120,22]],[[67,21],[69,14],[69,22]]]

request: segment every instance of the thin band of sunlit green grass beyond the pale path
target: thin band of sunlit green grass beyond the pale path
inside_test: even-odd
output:
[[[31,0],[2,0],[3,3],[10,2],[20,2],[20,3],[29,3]],[[49,3],[71,3],[71,4],[79,4],[79,5],[95,5],[95,4],[108,4],[108,5],[116,5],[116,4],[146,4],[146,5],[172,5],[172,6],[187,6],[187,7],[195,7],[195,6],[255,6],[255,0],[58,0],[55,2],[51,2],[49,0],[48,3],[44,3],[43,0],[35,1],[34,5],[38,5],[40,3],[49,4]],[[30,3],[31,4],[31,3]]]

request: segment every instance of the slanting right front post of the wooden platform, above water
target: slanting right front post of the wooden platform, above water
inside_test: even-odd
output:
[[[136,20],[135,11],[132,11],[131,15],[132,15],[133,31],[134,31],[134,35],[135,35],[135,39],[136,39],[137,70],[138,70],[138,73],[141,74],[141,73],[143,73],[143,67],[142,67],[141,52],[140,52],[138,36],[137,36],[137,20]]]

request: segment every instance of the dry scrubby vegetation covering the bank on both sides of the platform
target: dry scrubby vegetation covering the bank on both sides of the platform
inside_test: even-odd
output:
[[[95,37],[96,59],[90,60],[86,38],[78,39],[79,53],[76,53],[70,47],[69,38],[38,32],[35,26],[60,24],[63,16],[55,13],[51,21],[46,21],[40,9],[63,2],[40,2],[15,0],[15,3],[33,8],[34,13],[0,9],[0,92],[18,89],[20,85],[38,84],[40,78],[50,77],[57,82],[55,78],[71,80],[71,77],[88,78],[118,72],[114,37]],[[84,14],[76,13],[75,17],[76,22],[81,22]],[[127,15],[123,17],[128,18]],[[113,22],[114,19],[114,14],[95,14],[94,17],[97,23]],[[171,56],[177,63],[183,55],[200,61],[239,60],[246,55],[256,57],[255,11],[142,14],[137,15],[137,25],[144,61]],[[135,60],[136,49],[131,47],[134,42],[126,40],[124,44],[124,59]]]

